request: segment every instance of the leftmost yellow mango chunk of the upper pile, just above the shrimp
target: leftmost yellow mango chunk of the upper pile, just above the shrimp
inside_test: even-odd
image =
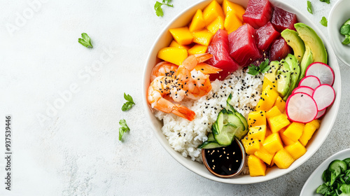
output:
[[[167,47],[160,49],[157,57],[167,62],[181,65],[183,60],[188,57],[188,53],[186,49]]]

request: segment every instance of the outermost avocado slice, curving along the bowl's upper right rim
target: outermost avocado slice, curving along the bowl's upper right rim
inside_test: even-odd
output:
[[[313,55],[313,62],[323,62],[327,64],[328,57],[327,51],[325,51],[325,45],[323,45],[321,38],[316,34],[314,29],[311,29],[311,27],[304,23],[296,23],[294,27],[297,29],[297,33],[300,38],[302,38],[302,41],[304,41],[304,44],[309,45]]]

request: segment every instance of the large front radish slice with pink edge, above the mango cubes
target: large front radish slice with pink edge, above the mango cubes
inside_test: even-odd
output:
[[[317,105],[309,94],[297,92],[288,97],[286,113],[293,122],[309,123],[317,116]]]

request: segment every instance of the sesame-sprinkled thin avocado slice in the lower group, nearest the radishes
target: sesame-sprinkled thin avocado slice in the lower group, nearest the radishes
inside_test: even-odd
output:
[[[297,86],[297,82],[299,80],[299,75],[300,75],[300,66],[299,66],[299,63],[297,62],[297,57],[295,57],[295,55],[288,54],[285,60],[290,66],[290,87],[288,89],[287,95],[283,97],[284,101],[287,100],[289,95],[292,94],[292,91]]]

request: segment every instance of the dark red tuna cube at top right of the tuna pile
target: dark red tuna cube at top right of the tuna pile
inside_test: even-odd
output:
[[[295,30],[294,24],[297,23],[297,15],[275,7],[271,23],[274,25],[274,28],[280,32],[284,29]]]

